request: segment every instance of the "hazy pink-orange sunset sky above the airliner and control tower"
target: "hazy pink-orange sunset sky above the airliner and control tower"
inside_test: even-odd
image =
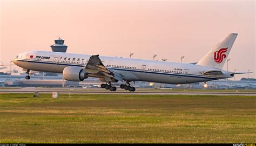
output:
[[[256,78],[255,1],[0,0],[0,62],[25,51],[68,52],[197,62],[228,33],[238,33],[228,70]],[[224,67],[226,69],[226,65]],[[245,75],[237,75],[237,79]]]

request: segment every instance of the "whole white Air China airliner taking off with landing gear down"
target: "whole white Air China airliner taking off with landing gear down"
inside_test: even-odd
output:
[[[120,88],[135,91],[131,81],[188,84],[232,78],[239,73],[224,71],[222,68],[237,35],[228,34],[194,64],[47,51],[24,52],[18,54],[13,62],[26,69],[26,79],[30,79],[30,70],[54,72],[63,73],[63,78],[69,81],[99,78],[106,82],[101,87],[110,91],[117,89],[111,82],[122,81]]]

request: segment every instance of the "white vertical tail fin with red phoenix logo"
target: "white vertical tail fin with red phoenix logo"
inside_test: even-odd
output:
[[[223,40],[220,41],[210,52],[208,52],[197,65],[208,66],[214,68],[223,68],[228,54],[234,44],[237,33],[228,34]]]

